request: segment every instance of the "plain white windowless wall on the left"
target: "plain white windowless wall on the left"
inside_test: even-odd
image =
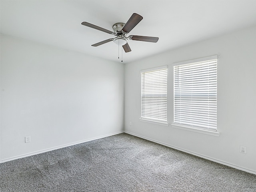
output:
[[[1,34],[0,92],[2,162],[124,130],[121,63]]]

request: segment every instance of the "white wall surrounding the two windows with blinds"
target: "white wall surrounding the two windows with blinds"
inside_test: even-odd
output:
[[[220,136],[172,128],[172,64],[216,54]],[[139,120],[140,70],[163,65],[168,65],[169,126]],[[124,126],[137,136],[256,174],[256,27],[126,64]],[[240,153],[240,145],[247,147],[247,154]]]

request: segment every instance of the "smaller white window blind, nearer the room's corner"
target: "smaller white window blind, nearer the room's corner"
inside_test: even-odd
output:
[[[167,122],[167,68],[141,72],[141,118]]]

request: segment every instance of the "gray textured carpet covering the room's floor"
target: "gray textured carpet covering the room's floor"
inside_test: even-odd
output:
[[[118,134],[0,164],[1,192],[256,192],[256,175]]]

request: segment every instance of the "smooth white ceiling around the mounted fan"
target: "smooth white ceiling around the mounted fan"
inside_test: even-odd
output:
[[[143,20],[128,35],[159,37],[157,43],[129,40],[124,63],[256,25],[256,0],[1,0],[1,33],[118,61],[112,31],[132,13]],[[120,52],[121,56],[121,52]]]

